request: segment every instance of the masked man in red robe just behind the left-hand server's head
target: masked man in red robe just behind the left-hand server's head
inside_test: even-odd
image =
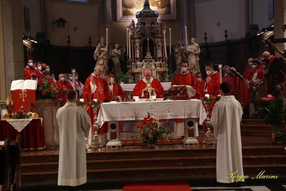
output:
[[[59,80],[56,81],[56,85],[59,87],[59,94],[56,95],[57,99],[62,99],[62,102],[60,103],[60,107],[63,107],[65,103],[67,102],[66,100],[66,93],[69,90],[73,90],[73,87],[65,81],[65,75],[60,74],[59,75]]]

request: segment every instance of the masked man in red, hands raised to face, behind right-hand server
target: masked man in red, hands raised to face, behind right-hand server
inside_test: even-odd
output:
[[[219,95],[220,75],[217,71],[214,70],[213,62],[205,63],[205,70],[207,73],[207,77],[205,79],[205,93],[212,97]],[[214,104],[212,104],[208,110],[210,117],[212,116],[213,106]],[[210,130],[213,130],[212,126],[210,126]],[[203,123],[203,132],[207,132],[207,126],[205,123]]]

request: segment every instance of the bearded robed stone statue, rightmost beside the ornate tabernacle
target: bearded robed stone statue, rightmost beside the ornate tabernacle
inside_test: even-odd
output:
[[[189,63],[189,70],[193,74],[200,72],[199,66],[199,54],[201,49],[199,48],[199,44],[196,43],[196,39],[191,39],[191,44],[186,49],[188,54],[188,63]]]

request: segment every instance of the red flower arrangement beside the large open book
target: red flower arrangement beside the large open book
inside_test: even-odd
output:
[[[59,93],[58,86],[51,78],[43,78],[38,80],[37,96],[39,99],[56,100],[56,95]]]

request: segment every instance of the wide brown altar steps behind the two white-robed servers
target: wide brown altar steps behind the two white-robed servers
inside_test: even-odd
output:
[[[170,125],[171,126],[171,125]],[[258,129],[261,129],[260,124]],[[132,127],[123,126],[123,130]],[[126,129],[127,128],[127,129]],[[136,128],[136,127],[134,127]],[[271,136],[250,133],[241,127],[244,175],[255,177],[278,175],[277,179],[246,179],[246,184],[286,182],[286,145],[268,145]],[[249,127],[248,127],[249,129]],[[264,127],[267,129],[267,127]],[[128,130],[128,131],[129,131]],[[130,134],[130,132],[129,132]],[[125,134],[128,136],[128,134]],[[87,153],[87,183],[121,187],[124,183],[187,181],[216,183],[216,148],[202,147],[203,132],[199,128],[199,148],[185,148],[181,144],[157,145],[150,149],[142,146],[123,146],[116,149]],[[22,186],[57,184],[59,149],[21,152]]]

